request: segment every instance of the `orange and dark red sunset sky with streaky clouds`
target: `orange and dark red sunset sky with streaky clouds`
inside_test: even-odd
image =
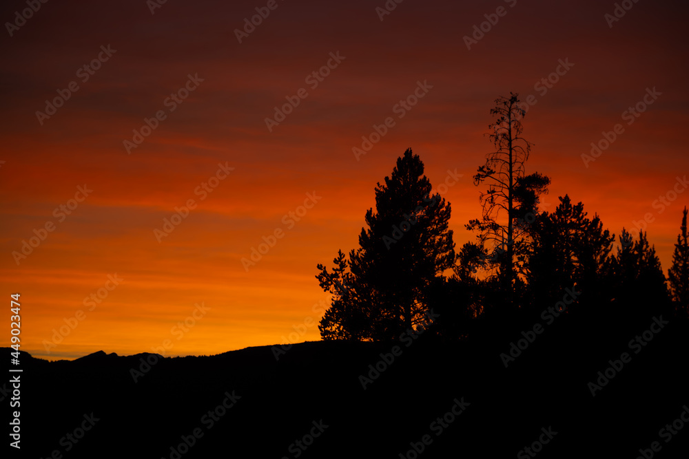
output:
[[[489,110],[511,91],[535,101],[526,171],[552,179],[542,209],[568,193],[616,235],[650,214],[667,273],[689,206],[687,6],[623,3],[613,21],[615,2],[593,0],[48,1],[25,20],[25,1],[3,2],[0,290],[8,303],[21,293],[21,349],[52,360],[165,340],[166,355],[185,355],[320,339],[316,264],[358,245],[376,183],[408,147],[434,186],[462,174],[443,197],[457,248],[473,240],[471,177],[491,151]],[[256,8],[267,17],[246,32]],[[267,126],[287,98],[298,106]],[[157,127],[138,138],[145,118]],[[154,233],[189,200],[172,232]],[[66,322],[76,327],[46,345]]]

